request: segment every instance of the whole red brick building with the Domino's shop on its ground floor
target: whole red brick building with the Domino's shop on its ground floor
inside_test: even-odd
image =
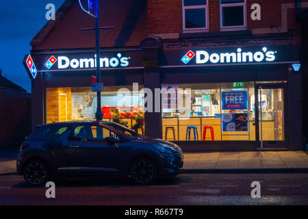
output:
[[[305,62],[300,46],[307,7],[308,1],[290,0],[101,1],[101,26],[114,26],[101,38],[101,57],[129,60],[124,67],[102,61],[106,95],[112,96],[119,87],[131,90],[133,82],[153,91],[163,86],[191,88],[189,118],[181,118],[170,106],[144,116],[146,135],[174,140],[185,151],[303,149],[306,65],[297,67]],[[49,21],[31,41],[31,56],[38,66],[33,104],[39,106],[32,112],[33,125],[49,123],[49,118],[62,120],[61,98],[71,106],[65,108],[70,111],[65,120],[94,119],[80,96],[86,95],[83,100],[94,96],[88,90],[95,72],[90,62],[94,34],[80,31],[93,26],[94,18],[82,12],[78,1],[67,0],[55,21]],[[188,51],[191,57],[185,57]],[[57,64],[46,68],[51,55],[57,57]],[[79,65],[84,58],[88,69]],[[246,106],[224,108],[222,97],[235,91],[247,96]],[[105,107],[114,109],[107,96],[103,105],[105,101]],[[51,101],[59,105],[57,110],[49,105]],[[142,104],[130,107],[144,108]],[[224,121],[226,116],[246,120],[240,125],[238,120]],[[133,125],[133,119],[125,119]],[[209,131],[203,138],[205,127]],[[188,131],[199,138],[193,134],[189,138]]]

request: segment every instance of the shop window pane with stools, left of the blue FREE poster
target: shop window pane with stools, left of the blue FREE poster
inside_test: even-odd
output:
[[[183,112],[172,96],[162,94],[162,138],[165,140],[221,140],[220,83],[162,85],[179,90],[183,103],[189,99],[190,112]],[[183,89],[180,92],[180,89]],[[186,92],[190,89],[190,95]],[[177,97],[178,98],[178,97]],[[169,100],[170,99],[170,100]],[[186,108],[186,105],[183,105]],[[190,132],[190,136],[188,133]],[[195,136],[196,134],[196,136]],[[196,138],[198,136],[198,138]]]

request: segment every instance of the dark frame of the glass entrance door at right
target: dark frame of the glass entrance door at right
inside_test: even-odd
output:
[[[264,147],[261,148],[261,139],[259,133],[259,89],[283,89],[283,120],[285,140],[263,140]],[[290,149],[289,144],[289,111],[288,111],[288,94],[287,83],[256,83],[255,82],[255,148],[260,149]]]

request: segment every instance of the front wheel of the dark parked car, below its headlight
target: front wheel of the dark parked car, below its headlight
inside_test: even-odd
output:
[[[151,159],[142,157],[131,164],[130,175],[134,183],[148,184],[155,180],[157,168]]]

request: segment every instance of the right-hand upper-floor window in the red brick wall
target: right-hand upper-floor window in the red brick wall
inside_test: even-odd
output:
[[[246,29],[246,0],[220,0],[220,29]]]

